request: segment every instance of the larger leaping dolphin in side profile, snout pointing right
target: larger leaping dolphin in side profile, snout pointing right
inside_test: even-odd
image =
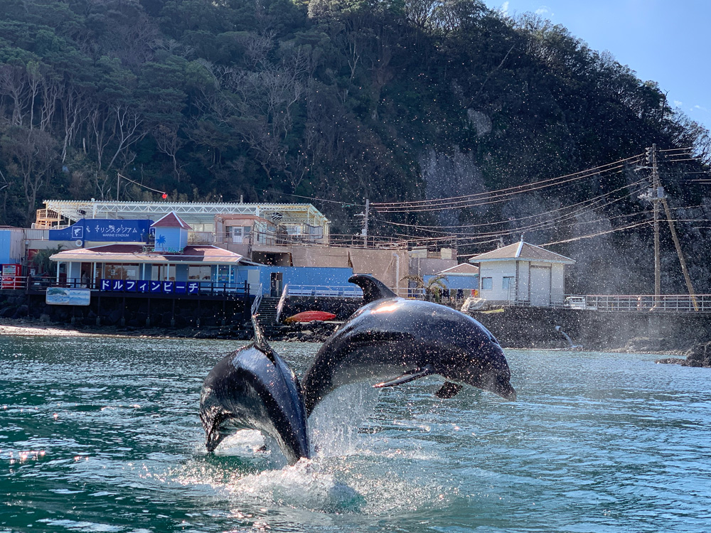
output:
[[[365,305],[321,346],[301,379],[306,413],[341,385],[371,381],[394,387],[428,375],[444,377],[436,396],[463,384],[515,400],[501,345],[479,322],[447,306],[398,298],[373,276],[348,279]]]

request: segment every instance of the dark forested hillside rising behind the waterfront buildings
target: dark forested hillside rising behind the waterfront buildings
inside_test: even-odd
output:
[[[525,234],[577,259],[573,291],[649,292],[652,144],[708,291],[708,132],[565,28],[477,0],[0,0],[3,224],[113,199],[117,173],[171,200],[312,201],[344,234],[368,198],[371,235],[466,254]]]

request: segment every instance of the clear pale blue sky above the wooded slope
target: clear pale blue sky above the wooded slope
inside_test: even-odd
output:
[[[711,0],[485,0],[509,16],[538,13],[593,50],[609,50],[672,107],[711,129]]]

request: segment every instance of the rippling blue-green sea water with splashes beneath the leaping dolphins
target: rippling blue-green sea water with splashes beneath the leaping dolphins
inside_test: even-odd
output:
[[[711,370],[506,350],[517,402],[344,387],[288,466],[256,431],[205,453],[201,384],[241,344],[0,338],[0,532],[711,530]],[[319,346],[274,348],[301,375]]]

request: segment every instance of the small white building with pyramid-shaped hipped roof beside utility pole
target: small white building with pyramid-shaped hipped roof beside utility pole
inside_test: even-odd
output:
[[[556,306],[565,301],[565,265],[574,260],[528,242],[479,254],[479,296],[487,301]]]

